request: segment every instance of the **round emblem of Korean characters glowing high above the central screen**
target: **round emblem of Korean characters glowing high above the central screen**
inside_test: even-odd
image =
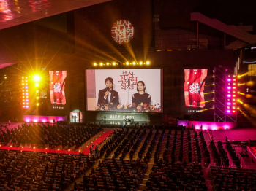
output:
[[[132,23],[128,20],[118,20],[111,28],[111,36],[118,44],[126,44],[130,42],[134,35]]]

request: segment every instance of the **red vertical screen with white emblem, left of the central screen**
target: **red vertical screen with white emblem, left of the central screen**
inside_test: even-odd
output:
[[[49,71],[50,75],[50,103],[65,105],[65,79],[67,71]]]

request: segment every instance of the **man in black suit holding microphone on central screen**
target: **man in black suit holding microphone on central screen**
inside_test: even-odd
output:
[[[119,95],[118,92],[113,90],[113,79],[111,77],[107,77],[105,79],[106,88],[103,90],[99,90],[99,104],[119,104]]]

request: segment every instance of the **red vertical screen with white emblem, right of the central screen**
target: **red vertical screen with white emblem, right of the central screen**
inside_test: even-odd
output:
[[[214,84],[208,69],[184,69],[185,113],[198,113],[213,109]]]

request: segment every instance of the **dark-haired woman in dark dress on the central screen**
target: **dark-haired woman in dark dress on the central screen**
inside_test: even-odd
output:
[[[145,89],[145,83],[143,81],[139,81],[137,83],[138,93],[132,95],[132,103],[135,103],[135,106],[141,106],[141,103],[150,104],[151,96],[148,93],[145,93]]]

